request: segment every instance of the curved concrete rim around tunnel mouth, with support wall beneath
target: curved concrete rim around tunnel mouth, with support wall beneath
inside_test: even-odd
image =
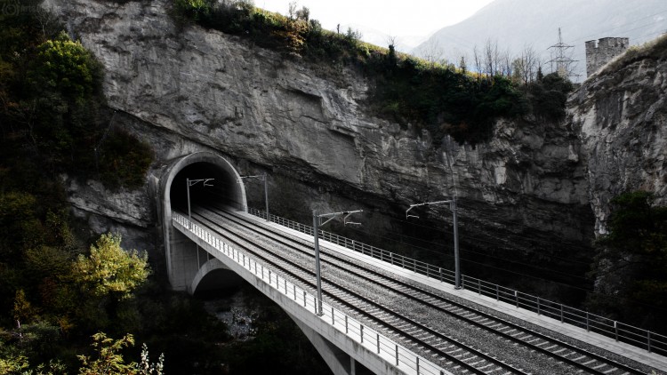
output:
[[[187,291],[199,270],[197,260],[197,246],[172,225],[172,184],[179,173],[193,164],[209,164],[219,172],[218,178],[225,176],[221,185],[230,187],[229,203],[240,211],[247,212],[245,186],[236,168],[227,159],[212,152],[197,152],[188,156],[181,156],[173,160],[165,168],[160,178],[160,208],[162,229],[165,241],[165,257],[167,274],[173,290]],[[191,178],[206,178],[206,176],[192,176]],[[214,182],[215,183],[215,182]]]

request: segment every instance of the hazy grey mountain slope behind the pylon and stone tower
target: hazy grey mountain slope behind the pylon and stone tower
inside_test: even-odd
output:
[[[478,50],[487,39],[498,42],[502,51],[518,55],[532,45],[551,60],[550,45],[563,42],[574,45],[572,59],[578,60],[577,73],[585,78],[584,42],[606,36],[630,38],[630,44],[642,44],[667,31],[667,2],[664,0],[495,0],[462,22],[440,29],[429,40],[415,47],[417,56],[433,55],[434,50],[458,63],[462,56],[472,68],[473,47]],[[555,67],[554,67],[555,68]],[[546,65],[550,71],[550,65]]]

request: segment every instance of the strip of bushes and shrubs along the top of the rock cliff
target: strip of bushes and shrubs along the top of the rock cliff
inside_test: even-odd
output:
[[[538,73],[527,82],[516,72],[471,72],[465,61],[456,67],[398,53],[393,44],[366,44],[351,28],[323,29],[305,7],[292,6],[284,16],[247,0],[174,0],[173,17],[181,25],[196,23],[242,36],[285,57],[358,68],[374,83],[367,103],[371,115],[426,129],[436,145],[446,134],[472,144],[489,140],[499,117],[532,114],[559,121],[572,90],[555,74]]]

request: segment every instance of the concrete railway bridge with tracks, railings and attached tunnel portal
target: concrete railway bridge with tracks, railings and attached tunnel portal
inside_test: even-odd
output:
[[[357,363],[378,374],[667,373],[664,336],[465,275],[456,290],[450,271],[327,232],[318,232],[318,294],[312,227],[249,210],[244,180],[212,152],[173,160],[159,189],[173,289],[240,276],[293,318],[335,374]]]

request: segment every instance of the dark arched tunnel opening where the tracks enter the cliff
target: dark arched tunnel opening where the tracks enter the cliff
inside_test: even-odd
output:
[[[173,178],[170,191],[172,210],[188,213],[188,179],[191,206],[216,204],[242,208],[242,203],[237,202],[234,194],[238,188],[236,176],[218,165],[198,162],[189,164]]]

